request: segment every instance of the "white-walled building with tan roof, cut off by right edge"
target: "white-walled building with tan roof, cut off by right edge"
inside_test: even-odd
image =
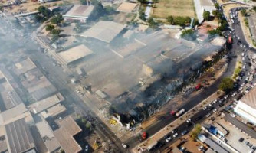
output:
[[[256,125],[256,87],[238,101],[235,112]]]

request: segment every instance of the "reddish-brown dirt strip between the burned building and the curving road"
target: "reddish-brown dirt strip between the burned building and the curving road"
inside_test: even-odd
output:
[[[208,84],[213,83],[215,80],[210,80],[210,76],[212,75],[212,73],[214,73],[214,78],[218,78],[221,76],[223,70],[225,69],[225,67],[223,67],[225,65],[225,60],[222,59],[220,60],[218,63],[215,64],[214,67],[210,68],[208,70],[208,72],[204,73],[202,75],[202,77],[200,77],[198,80],[196,80],[196,84],[198,83],[202,83],[203,80],[205,80],[205,84],[202,84],[203,86],[208,86]],[[141,124],[141,128],[142,129],[146,129],[147,127],[149,127],[150,125],[152,125],[154,122],[156,122],[156,120],[162,118],[163,116],[169,115],[169,112],[172,109],[177,108],[179,105],[181,105],[182,103],[185,103],[186,100],[188,100],[189,98],[191,98],[192,96],[195,96],[199,93],[201,93],[202,90],[199,90],[197,92],[193,92],[187,99],[184,98],[183,94],[179,94],[177,95],[174,99],[170,100],[168,103],[166,103],[165,106],[162,106],[161,109],[159,109],[159,112],[156,112],[153,116],[149,117],[149,119],[147,119],[146,121],[144,121]]]

